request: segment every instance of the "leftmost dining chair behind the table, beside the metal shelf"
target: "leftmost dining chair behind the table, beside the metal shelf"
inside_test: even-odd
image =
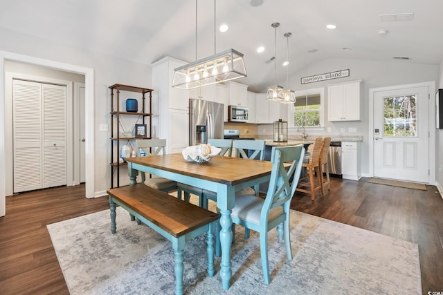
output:
[[[146,156],[159,155],[166,153],[166,140],[165,139],[150,139],[150,140],[136,140],[136,154],[137,157],[141,156],[141,150],[143,150]],[[148,175],[148,176],[147,176]],[[169,193],[177,189],[177,182],[169,180],[167,178],[161,178],[156,175],[149,175],[149,173],[141,172],[141,180],[148,187],[158,189]]]

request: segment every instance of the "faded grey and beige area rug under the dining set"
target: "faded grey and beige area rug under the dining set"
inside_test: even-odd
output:
[[[174,294],[174,252],[168,240],[136,225],[117,208],[48,225],[71,294]],[[185,294],[422,294],[418,245],[291,211],[293,260],[269,232],[271,284],[265,285],[259,236],[236,227],[230,289],[206,272],[206,236],[186,243]]]

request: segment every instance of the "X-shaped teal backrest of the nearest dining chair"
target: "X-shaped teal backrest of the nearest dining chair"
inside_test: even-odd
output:
[[[289,206],[296,193],[298,180],[302,169],[305,148],[297,146],[274,146],[271,154],[272,171],[269,188],[264,200],[260,222],[266,222],[269,210],[282,206],[285,213],[289,213]],[[289,169],[284,163],[291,162]],[[292,178],[292,182],[290,180]]]

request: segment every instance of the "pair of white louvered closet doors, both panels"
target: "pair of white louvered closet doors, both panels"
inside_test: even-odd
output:
[[[14,192],[66,185],[66,86],[13,83]]]

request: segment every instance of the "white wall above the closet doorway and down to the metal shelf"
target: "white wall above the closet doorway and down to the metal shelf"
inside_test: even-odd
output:
[[[94,70],[94,189],[96,196],[105,194],[111,183],[110,162],[110,131],[100,132],[100,124],[110,124],[110,89],[112,84],[127,84],[150,88],[151,68],[147,64],[135,63],[111,57],[101,53],[93,53],[84,48],[76,48],[66,44],[33,37],[0,28],[0,50],[28,55],[41,59],[72,64]],[[85,45],[87,47],[87,44]],[[3,90],[2,90],[3,91]],[[1,125],[0,125],[1,126]],[[121,173],[121,171],[120,171]],[[124,173],[124,172],[123,172]]]

